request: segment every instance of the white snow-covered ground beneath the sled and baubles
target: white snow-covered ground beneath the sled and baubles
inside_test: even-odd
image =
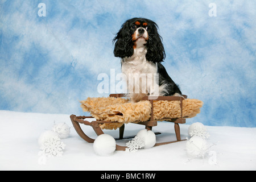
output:
[[[255,170],[256,128],[206,126],[210,137],[209,154],[204,159],[189,159],[185,151],[187,141],[141,149],[136,152],[115,151],[114,155],[97,156],[93,144],[87,143],[71,127],[68,138],[62,139],[62,156],[40,162],[38,138],[54,123],[72,123],[69,115],[19,113],[0,110],[0,170]],[[181,139],[185,139],[189,125],[180,125]],[[86,134],[96,138],[91,127],[83,126]],[[135,135],[143,126],[125,126],[125,136]],[[174,124],[159,122],[153,131],[156,141],[175,140]],[[105,130],[118,137],[118,130]],[[125,146],[131,139],[118,141]]]

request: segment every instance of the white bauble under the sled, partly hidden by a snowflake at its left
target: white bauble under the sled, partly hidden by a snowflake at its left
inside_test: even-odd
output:
[[[144,141],[142,148],[151,148],[156,143],[155,133],[151,130],[143,129],[139,131],[136,136]]]

